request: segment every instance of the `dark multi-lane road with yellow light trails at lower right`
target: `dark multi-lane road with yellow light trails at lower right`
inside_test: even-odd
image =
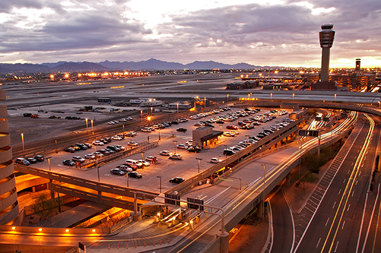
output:
[[[367,202],[368,195],[374,194],[367,193],[369,176],[380,139],[379,125],[373,133],[373,120],[362,120],[366,122],[364,128],[355,128],[358,139],[319,202],[294,252],[362,252],[369,210],[373,206],[373,202]]]

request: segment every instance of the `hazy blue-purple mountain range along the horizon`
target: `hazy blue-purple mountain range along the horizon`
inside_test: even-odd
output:
[[[44,62],[43,64],[30,63],[0,63],[0,73],[56,73],[56,72],[91,72],[91,71],[128,71],[128,70],[170,70],[170,69],[262,69],[244,62],[238,64],[224,64],[220,62],[195,61],[188,64],[165,62],[151,58],[140,62]],[[265,67],[269,68],[269,67]],[[273,67],[272,67],[273,68]]]

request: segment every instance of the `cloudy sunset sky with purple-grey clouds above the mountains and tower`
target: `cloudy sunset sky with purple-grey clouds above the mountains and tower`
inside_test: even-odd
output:
[[[141,61],[381,67],[377,0],[1,0],[0,62]]]

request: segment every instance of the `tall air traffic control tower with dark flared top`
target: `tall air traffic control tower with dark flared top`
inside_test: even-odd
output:
[[[321,25],[321,32],[319,32],[321,52],[321,72],[320,81],[328,82],[328,74],[330,73],[330,49],[334,44],[335,31],[334,25],[323,24]]]

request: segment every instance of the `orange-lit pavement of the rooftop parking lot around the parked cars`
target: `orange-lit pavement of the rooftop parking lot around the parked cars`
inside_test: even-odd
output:
[[[232,112],[237,112],[242,110],[240,108],[234,108],[233,110],[222,111],[213,115],[204,115],[204,117],[200,117],[199,119],[189,119],[187,122],[178,123],[178,125],[171,125],[170,127],[163,128],[161,130],[155,130],[152,132],[137,132],[136,136],[126,136],[124,140],[121,141],[112,141],[109,144],[105,144],[103,147],[107,145],[123,145],[124,147],[128,147],[128,143],[130,141],[135,141],[137,143],[142,143],[148,141],[149,143],[159,141],[159,146],[154,147],[152,149],[148,149],[143,153],[134,154],[132,156],[128,156],[129,159],[139,160],[142,158],[146,158],[147,156],[156,156],[159,160],[158,164],[151,164],[148,167],[144,167],[143,169],[137,169],[137,172],[142,174],[142,178],[129,178],[128,186],[130,188],[141,189],[146,191],[160,191],[160,180],[161,180],[161,191],[167,191],[172,188],[175,184],[170,183],[169,180],[175,177],[182,177],[187,180],[191,178],[196,173],[198,173],[198,159],[200,160],[200,171],[207,169],[211,165],[213,165],[209,160],[211,158],[219,158],[223,160],[226,156],[223,154],[223,150],[225,148],[232,147],[239,143],[240,141],[245,141],[247,136],[253,136],[258,134],[259,132],[263,132],[264,129],[270,129],[271,125],[279,124],[284,119],[288,119],[288,115],[277,116],[276,119],[272,121],[261,123],[261,125],[257,125],[252,129],[237,130],[238,134],[234,134],[234,136],[220,136],[220,141],[218,141],[217,145],[209,146],[208,149],[203,149],[199,153],[187,152],[186,149],[178,149],[175,148],[175,145],[180,145],[186,143],[189,140],[192,140],[192,130],[196,129],[195,123],[200,121],[207,121],[208,119],[213,119],[214,117],[224,116],[231,114]],[[255,117],[257,115],[264,115],[269,110],[261,110],[260,112],[253,113],[246,117],[240,117],[234,121],[224,121],[224,123],[213,123],[213,130],[222,130],[224,132],[230,132],[231,130],[227,129],[228,125],[237,125],[244,119],[250,119],[251,117]],[[186,132],[177,132],[177,128],[185,128]],[[128,131],[126,131],[128,132]],[[247,136],[246,136],[247,135]],[[111,136],[104,136],[111,137]],[[75,143],[73,143],[75,144]],[[91,149],[80,150],[75,153],[67,153],[60,151],[58,154],[54,154],[50,158],[50,169],[54,172],[65,173],[70,176],[76,176],[80,178],[86,178],[89,180],[98,180],[98,169],[97,167],[93,169],[79,169],[76,167],[68,167],[62,165],[62,160],[70,160],[73,156],[81,156],[94,152],[95,149],[99,150],[103,148],[102,146],[94,145]],[[172,154],[180,154],[183,156],[182,160],[174,160],[169,159],[168,156],[161,156],[159,153],[163,150],[168,150],[172,152]],[[124,161],[127,158],[113,160],[112,162],[108,162],[99,167],[99,178],[100,182],[105,182],[108,184],[116,184],[119,186],[127,186],[126,176],[117,176],[111,174],[110,170],[117,167],[118,165],[123,165]],[[198,158],[198,159],[197,159]],[[49,169],[49,164],[45,160],[45,162],[37,162],[33,165],[33,167],[38,167],[41,169]],[[159,178],[160,177],[160,178]]]

